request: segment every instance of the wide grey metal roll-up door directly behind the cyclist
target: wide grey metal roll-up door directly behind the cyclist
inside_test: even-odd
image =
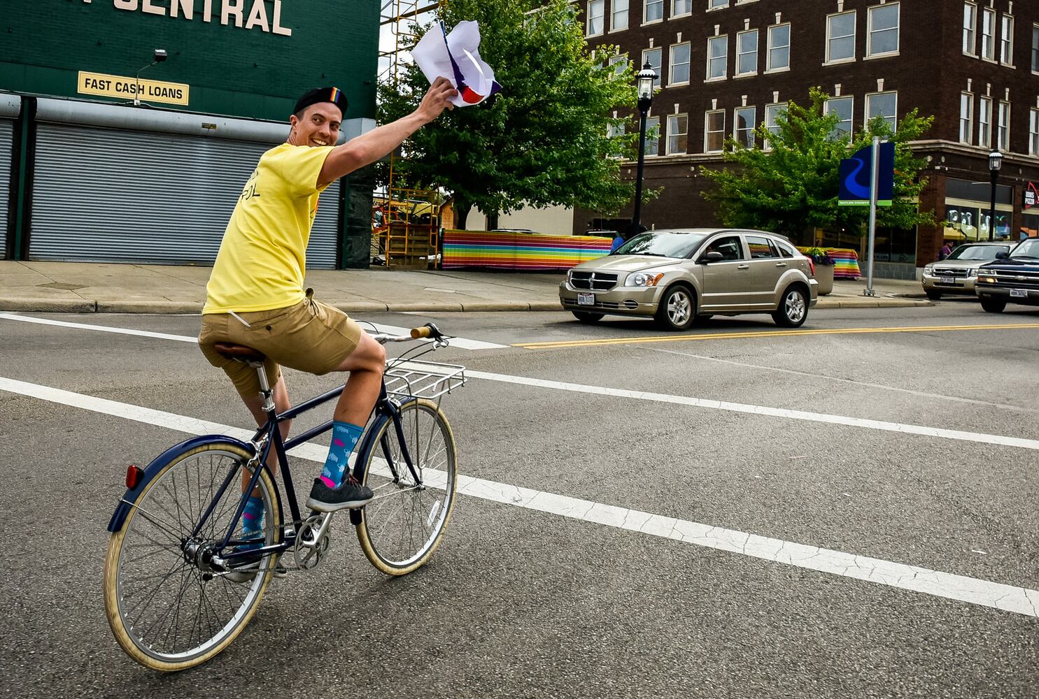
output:
[[[42,123],[29,257],[212,264],[242,185],[271,146]],[[339,186],[321,197],[311,268],[336,265]]]

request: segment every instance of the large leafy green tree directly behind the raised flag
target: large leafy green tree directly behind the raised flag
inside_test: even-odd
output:
[[[609,116],[613,110],[635,105],[632,72],[604,68],[615,47],[589,52],[571,3],[450,0],[441,19],[447,31],[479,22],[480,55],[502,91],[416,132],[395,163],[395,186],[450,192],[459,227],[473,206],[497,218],[525,205],[617,211],[632,199],[620,163],[633,157],[637,129],[607,135],[629,120]],[[409,113],[428,87],[408,64],[396,86],[380,86],[380,122]]]

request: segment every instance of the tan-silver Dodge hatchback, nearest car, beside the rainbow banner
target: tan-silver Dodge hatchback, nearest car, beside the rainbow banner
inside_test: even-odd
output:
[[[577,265],[559,285],[563,307],[583,323],[606,314],[651,316],[671,330],[747,313],[797,327],[817,299],[811,261],[790,241],[729,228],[647,231]]]

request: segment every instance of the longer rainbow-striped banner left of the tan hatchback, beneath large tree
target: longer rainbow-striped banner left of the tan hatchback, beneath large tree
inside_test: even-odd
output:
[[[564,270],[610,252],[611,238],[541,233],[445,231],[444,269]]]

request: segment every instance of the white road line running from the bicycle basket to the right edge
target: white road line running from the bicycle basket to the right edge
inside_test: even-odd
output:
[[[486,379],[488,381],[502,381],[504,383],[517,383],[521,385],[537,386],[539,388],[554,388],[556,391],[572,391],[581,394],[594,394],[596,396],[614,396],[616,398],[633,398],[640,401],[654,401],[657,403],[691,405],[693,407],[709,408],[711,410],[747,412],[754,415],[769,415],[770,418],[784,418],[787,420],[803,420],[810,423],[829,423],[831,425],[861,427],[870,430],[900,432],[902,434],[920,434],[928,437],[941,437],[943,439],[976,441],[982,445],[998,445],[1001,447],[1016,447],[1018,449],[1039,450],[1039,439],[1008,437],[1002,434],[963,432],[960,430],[947,430],[940,427],[927,427],[925,425],[903,425],[902,423],[888,423],[881,420],[868,420],[865,418],[848,418],[845,415],[831,415],[825,412],[808,412],[806,410],[770,408],[764,405],[729,403],[728,401],[716,401],[709,398],[671,396],[668,394],[655,394],[644,391],[629,391],[625,388],[593,386],[584,383],[568,383],[566,381],[552,381],[549,379],[532,379],[532,378],[527,378],[525,376],[492,374],[490,372],[471,371],[468,369],[465,370],[465,376],[476,379]]]

